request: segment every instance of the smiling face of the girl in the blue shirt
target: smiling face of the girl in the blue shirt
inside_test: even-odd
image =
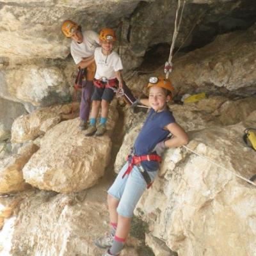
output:
[[[165,108],[166,102],[168,102],[168,100],[170,100],[170,95],[166,96],[166,92],[163,88],[159,86],[150,87],[148,102],[154,111],[162,111]]]

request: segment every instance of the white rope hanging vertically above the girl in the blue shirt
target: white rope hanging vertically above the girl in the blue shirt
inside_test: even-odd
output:
[[[173,57],[173,50],[174,50],[174,46],[175,46],[175,41],[177,39],[177,35],[179,33],[179,29],[180,29],[180,22],[182,20],[182,15],[183,15],[183,10],[184,10],[184,6],[185,6],[186,1],[183,1],[183,5],[182,5],[182,10],[180,13],[180,17],[179,17],[179,12],[180,12],[180,5],[181,5],[181,0],[178,1],[177,4],[177,10],[176,10],[176,15],[175,15],[175,22],[174,22],[174,31],[173,31],[173,36],[172,36],[172,45],[170,48],[170,54],[169,54],[169,58],[168,58],[168,67],[172,67],[172,57]],[[179,19],[179,21],[178,21]],[[170,68],[168,68],[168,70],[166,70],[166,79],[168,79],[169,77],[169,73],[170,73]]]

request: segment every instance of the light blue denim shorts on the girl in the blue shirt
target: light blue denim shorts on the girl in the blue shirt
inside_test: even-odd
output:
[[[141,195],[147,188],[147,183],[142,174],[138,170],[137,166],[133,166],[129,175],[122,176],[126,172],[129,163],[125,163],[120,173],[116,177],[114,183],[108,190],[108,194],[119,200],[117,207],[117,213],[120,216],[131,218],[134,208],[141,198]],[[157,174],[157,170],[154,172],[148,172],[151,181],[154,180]]]

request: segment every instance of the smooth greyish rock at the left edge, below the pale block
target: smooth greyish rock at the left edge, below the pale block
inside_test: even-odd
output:
[[[0,98],[0,141],[10,138],[13,121],[24,113],[22,104]]]

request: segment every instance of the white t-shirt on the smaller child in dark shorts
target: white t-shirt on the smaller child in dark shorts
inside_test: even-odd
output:
[[[113,79],[115,72],[123,69],[122,61],[116,52],[111,52],[108,56],[102,53],[101,47],[97,47],[94,52],[94,59],[97,66],[95,78],[106,77]]]

